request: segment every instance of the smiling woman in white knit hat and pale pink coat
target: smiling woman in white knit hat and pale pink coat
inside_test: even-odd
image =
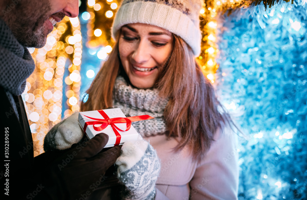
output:
[[[155,117],[133,123],[161,159],[150,199],[237,199],[233,123],[195,60],[200,8],[200,1],[124,0],[113,24],[114,48],[81,103],[81,111],[113,106]]]

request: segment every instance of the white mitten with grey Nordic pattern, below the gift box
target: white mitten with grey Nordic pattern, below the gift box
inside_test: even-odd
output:
[[[153,147],[139,135],[138,140],[125,142],[115,162],[117,177],[125,185],[124,199],[154,199],[160,160]]]

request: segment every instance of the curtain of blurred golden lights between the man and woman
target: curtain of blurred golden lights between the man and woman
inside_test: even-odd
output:
[[[65,17],[49,34],[45,47],[29,49],[36,68],[27,79],[22,97],[33,133],[34,156],[44,152],[45,134],[61,119],[63,90],[68,98],[68,109],[64,111],[64,115],[78,109],[81,39],[78,18]],[[69,75],[65,78],[67,67]]]

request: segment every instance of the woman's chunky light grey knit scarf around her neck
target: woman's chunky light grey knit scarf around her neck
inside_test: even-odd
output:
[[[129,86],[121,76],[117,77],[113,90],[113,107],[120,108],[130,116],[150,115],[154,119],[132,122],[143,137],[165,133],[163,112],[168,99],[159,97],[156,89],[136,89]]]

